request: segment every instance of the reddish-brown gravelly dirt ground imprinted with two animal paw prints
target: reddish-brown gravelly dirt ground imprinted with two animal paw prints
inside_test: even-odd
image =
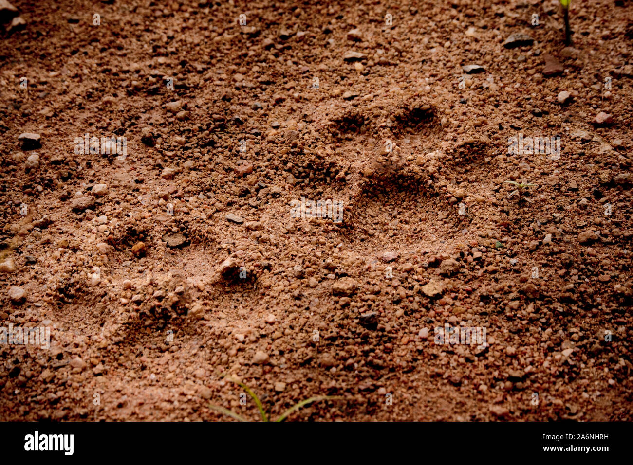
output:
[[[11,3],[0,419],[633,419],[630,1]]]

